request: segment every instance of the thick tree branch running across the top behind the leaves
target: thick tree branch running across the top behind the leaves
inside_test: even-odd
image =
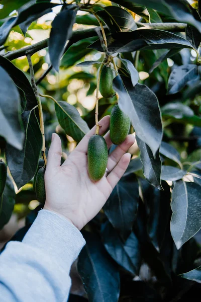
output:
[[[139,28],[149,28],[149,29],[161,29],[161,30],[166,30],[166,31],[172,31],[172,32],[184,32],[186,28],[185,23],[136,23]],[[89,37],[94,37],[97,36],[96,29],[100,29],[100,27],[94,27],[94,28],[89,28],[89,29],[84,29],[84,30],[77,30],[74,31],[71,37],[71,42],[76,43],[77,41]],[[104,30],[106,33],[108,33],[108,28],[107,26],[104,26]],[[28,53],[35,53],[43,48],[46,48],[48,46],[48,39],[45,39],[43,41],[40,41],[38,43],[35,43],[33,45],[15,50],[15,51],[9,51],[7,52],[4,57],[9,59],[9,60],[14,60],[17,59],[23,55],[26,55]]]

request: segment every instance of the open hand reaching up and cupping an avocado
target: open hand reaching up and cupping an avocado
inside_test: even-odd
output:
[[[100,120],[99,134],[109,127],[110,116]],[[134,143],[132,134],[116,147],[108,159],[109,175],[97,182],[90,180],[87,171],[87,145],[95,126],[82,138],[67,160],[61,165],[61,140],[53,133],[45,172],[46,202],[44,209],[69,219],[79,230],[104,206],[112,190],[126,171],[131,155],[126,153]],[[110,133],[105,135],[108,148]],[[126,154],[125,154],[126,153]]]

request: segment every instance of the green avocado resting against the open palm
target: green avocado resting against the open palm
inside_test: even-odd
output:
[[[108,147],[105,138],[93,135],[88,141],[88,174],[91,180],[100,180],[108,164]]]

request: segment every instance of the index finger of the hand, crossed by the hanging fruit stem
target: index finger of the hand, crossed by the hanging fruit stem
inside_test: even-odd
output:
[[[106,132],[106,130],[109,127],[110,124],[110,115],[107,115],[103,117],[99,122],[100,128],[99,128],[99,134],[102,135]],[[82,138],[82,140],[78,143],[76,146],[76,150],[79,152],[87,152],[87,146],[89,138],[95,134],[95,126]]]

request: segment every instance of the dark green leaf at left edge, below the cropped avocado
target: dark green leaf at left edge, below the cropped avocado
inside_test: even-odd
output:
[[[7,224],[11,218],[14,204],[15,204],[15,190],[12,180],[7,175],[6,186],[4,193],[0,197],[0,230]]]

